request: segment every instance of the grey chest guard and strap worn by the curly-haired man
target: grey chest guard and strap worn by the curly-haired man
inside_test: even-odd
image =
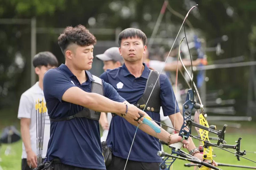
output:
[[[100,95],[104,95],[103,93],[103,86],[102,86],[102,81],[99,77],[93,75],[94,81],[91,83],[91,93],[97,93]],[[73,114],[71,116],[59,118],[59,119],[52,119],[50,118],[50,121],[57,122],[57,121],[65,121],[65,120],[70,120],[76,117],[86,117],[88,119],[93,119],[93,120],[99,120],[99,117],[101,116],[101,112],[96,112],[92,109],[89,108],[83,108],[83,110],[77,112],[76,114]]]

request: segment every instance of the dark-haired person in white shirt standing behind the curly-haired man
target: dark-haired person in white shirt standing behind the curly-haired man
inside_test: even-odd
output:
[[[21,95],[18,109],[18,118],[21,120],[22,137],[22,170],[30,170],[37,167],[37,139],[36,139],[36,112],[35,102],[45,102],[43,95],[43,76],[51,68],[58,66],[57,58],[51,52],[40,52],[33,58],[35,73],[38,75],[38,82]],[[45,129],[43,141],[43,155],[46,156],[48,141],[50,138],[50,120],[46,111]]]

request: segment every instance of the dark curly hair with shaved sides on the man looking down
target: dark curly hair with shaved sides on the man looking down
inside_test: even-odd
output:
[[[80,46],[89,46],[96,44],[96,38],[83,25],[66,27],[63,33],[58,37],[58,44],[64,56],[67,46],[71,43]]]

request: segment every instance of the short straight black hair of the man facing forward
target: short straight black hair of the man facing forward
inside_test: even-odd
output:
[[[144,32],[137,28],[126,28],[118,35],[118,44],[121,45],[122,39],[139,38],[142,40],[143,45],[147,42],[147,37]]]

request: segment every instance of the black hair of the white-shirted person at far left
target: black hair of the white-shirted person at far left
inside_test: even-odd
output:
[[[44,51],[36,54],[33,58],[33,66],[40,67],[40,66],[56,66],[58,67],[58,60],[53,55],[53,53],[49,51]]]

